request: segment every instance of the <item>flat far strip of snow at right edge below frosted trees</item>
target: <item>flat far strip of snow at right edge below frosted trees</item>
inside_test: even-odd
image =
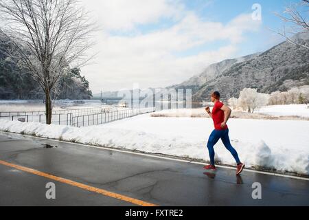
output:
[[[286,104],[286,105],[271,105],[262,107],[255,111],[275,116],[301,116],[309,118],[309,105],[307,104]]]

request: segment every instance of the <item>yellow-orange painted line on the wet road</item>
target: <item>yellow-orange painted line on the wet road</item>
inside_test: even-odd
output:
[[[133,203],[133,204],[138,205],[138,206],[157,206],[155,204],[148,203],[146,201],[141,201],[139,199],[133,199],[133,198],[130,198],[130,197],[126,197],[124,195],[120,195],[120,194],[117,194],[115,192],[109,192],[107,190],[102,190],[101,188],[95,188],[93,186],[88,186],[88,185],[85,185],[85,184],[80,184],[77,181],[72,181],[70,179],[65,179],[65,178],[62,178],[62,177],[56,177],[54,175],[43,173],[41,171],[34,170],[32,168],[27,168],[25,166],[19,166],[19,165],[16,165],[16,164],[10,164],[10,163],[2,161],[2,160],[0,160],[0,164],[2,164],[4,166],[10,166],[12,168],[16,168],[17,170],[23,170],[23,171],[25,171],[27,173],[32,173],[34,175],[38,175],[38,176],[45,177],[45,178],[48,178],[48,179],[53,179],[53,180],[59,181],[59,182],[64,183],[64,184],[68,184],[68,185],[71,185],[71,186],[76,186],[76,187],[82,188],[84,190],[88,190],[88,191],[91,191],[91,192],[97,192],[97,193],[105,195],[107,197],[112,197],[112,198],[119,199],[119,200],[122,200],[122,201],[127,201],[129,203]]]

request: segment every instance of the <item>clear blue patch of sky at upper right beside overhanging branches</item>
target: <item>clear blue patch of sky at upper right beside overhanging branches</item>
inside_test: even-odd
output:
[[[262,6],[262,27],[259,32],[245,34],[246,41],[242,44],[241,55],[251,54],[253,52],[260,52],[267,50],[273,45],[282,41],[282,38],[270,32],[271,30],[278,30],[282,28],[284,23],[275,16],[275,12],[282,13],[285,7],[291,3],[298,3],[295,1],[286,0],[233,0],[233,1],[212,1],[208,8],[201,11],[201,14],[207,14],[209,17],[214,17],[222,22],[228,22],[237,14],[252,12],[251,5],[259,3]],[[203,16],[203,15],[202,15]],[[270,39],[271,38],[271,39]],[[251,44],[254,42],[254,45]]]

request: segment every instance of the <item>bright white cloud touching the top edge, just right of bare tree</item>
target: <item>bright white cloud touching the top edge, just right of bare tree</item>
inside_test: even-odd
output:
[[[161,18],[178,19],[183,12],[179,0],[82,0],[105,30],[133,30],[135,25],[155,23]]]

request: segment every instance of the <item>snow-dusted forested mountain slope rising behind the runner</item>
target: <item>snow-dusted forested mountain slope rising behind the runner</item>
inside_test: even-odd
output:
[[[297,35],[294,40],[309,45],[309,34]],[[285,41],[262,54],[210,65],[202,74],[174,87],[192,88],[193,100],[201,101],[214,90],[227,99],[238,97],[246,87],[271,93],[301,85],[309,85],[309,50]]]

